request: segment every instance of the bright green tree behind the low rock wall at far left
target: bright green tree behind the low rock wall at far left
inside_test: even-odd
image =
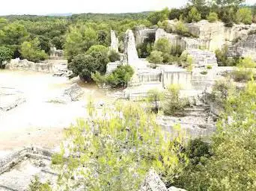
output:
[[[48,55],[45,51],[40,50],[40,41],[38,38],[31,40],[30,42],[25,41],[22,43],[20,48],[22,57],[32,62],[39,62],[40,60],[46,60]]]

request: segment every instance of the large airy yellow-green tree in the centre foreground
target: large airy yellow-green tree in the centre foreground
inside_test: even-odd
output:
[[[93,105],[89,119],[67,131],[70,157],[55,165],[57,190],[138,190],[151,167],[166,184],[180,175],[188,162],[182,134],[171,140],[138,104],[121,102],[100,113]]]

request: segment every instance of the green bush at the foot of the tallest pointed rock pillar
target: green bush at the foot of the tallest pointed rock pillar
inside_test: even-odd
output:
[[[134,70],[129,65],[118,66],[112,74],[106,77],[107,83],[112,88],[125,88],[127,87],[128,82],[131,80]]]

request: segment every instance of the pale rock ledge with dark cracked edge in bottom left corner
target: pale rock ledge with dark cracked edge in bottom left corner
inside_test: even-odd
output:
[[[0,158],[0,190],[28,190],[34,175],[40,181],[55,182],[58,174],[51,169],[52,151],[23,148]]]

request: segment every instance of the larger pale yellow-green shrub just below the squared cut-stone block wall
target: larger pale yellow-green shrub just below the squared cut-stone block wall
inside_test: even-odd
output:
[[[180,98],[180,87],[171,85],[168,87],[168,93],[165,95],[163,111],[165,115],[177,115],[183,113],[186,106],[189,105],[187,98]]]

